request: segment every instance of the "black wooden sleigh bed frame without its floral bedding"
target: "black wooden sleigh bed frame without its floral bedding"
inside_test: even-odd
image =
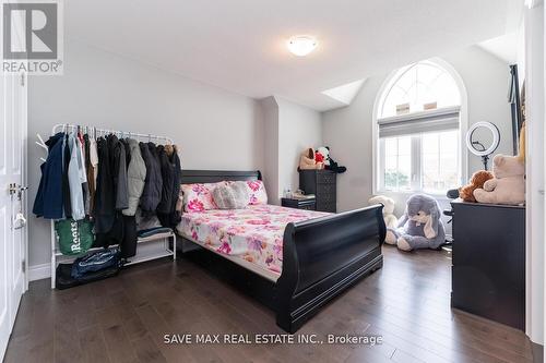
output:
[[[261,180],[260,171],[182,170],[182,184]],[[383,265],[382,205],[288,223],[283,269],[276,282],[204,247],[185,257],[252,295],[276,314],[276,324],[298,330],[321,306]],[[180,235],[185,243],[195,243]]]

